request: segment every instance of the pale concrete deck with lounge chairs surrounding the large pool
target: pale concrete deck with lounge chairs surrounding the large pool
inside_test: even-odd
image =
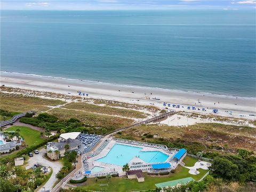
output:
[[[105,167],[105,169],[102,170],[101,172],[96,172],[96,173],[94,172],[91,175],[88,175],[88,177],[95,177],[95,176],[106,175],[106,174],[114,174],[116,172],[118,172],[120,176],[125,175],[125,172],[122,170],[122,168],[123,168],[122,166],[97,161],[97,159],[105,157],[115,144],[121,144],[121,145],[132,146],[132,147],[140,147],[140,148],[142,148],[141,151],[161,151],[162,153],[169,156],[165,162],[169,162],[172,164],[171,158],[174,155],[174,153],[169,153],[168,150],[164,150],[162,148],[138,146],[138,145],[133,145],[131,143],[122,143],[122,142],[117,142],[116,140],[111,139],[110,142],[108,143],[108,145],[101,151],[100,154],[87,159],[88,168],[86,170],[92,170],[94,166]],[[138,168],[133,167],[136,163],[137,164],[140,163],[140,164],[138,164]],[[148,171],[151,168],[151,164],[152,163],[146,163],[139,157],[133,157],[131,159],[131,161],[129,162],[129,167],[130,167],[130,170],[138,169],[138,170],[142,170],[142,171]],[[85,168],[83,167],[83,172],[84,172],[84,170],[85,170]]]

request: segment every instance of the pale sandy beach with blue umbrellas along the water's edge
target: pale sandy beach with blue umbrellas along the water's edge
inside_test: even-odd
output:
[[[219,111],[215,115],[227,117],[255,119],[255,116],[249,115],[255,115],[256,113],[256,98],[233,97],[230,95],[133,87],[5,72],[1,72],[1,85],[76,96],[78,96],[77,91],[81,91],[82,93],[89,94],[87,97],[83,96],[86,98],[155,105],[163,109],[166,109],[163,106],[163,102],[166,102],[171,103],[171,105],[180,105],[180,108],[168,107],[172,110],[194,111],[203,114],[213,114],[212,108],[217,108]],[[188,106],[195,106],[196,110],[189,110],[187,109]],[[201,110],[198,110],[198,108]],[[202,108],[205,108],[206,111],[202,111]]]

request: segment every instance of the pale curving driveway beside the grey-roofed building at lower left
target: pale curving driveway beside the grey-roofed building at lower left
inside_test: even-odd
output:
[[[50,179],[45,183],[45,185],[43,187],[45,187],[45,191],[51,191],[54,183],[57,181],[57,179],[55,178],[55,174],[57,174],[61,167],[62,164],[60,162],[51,162],[49,160],[47,160],[46,158],[43,157],[43,155],[46,153],[45,149],[40,149],[39,150],[39,154],[33,154],[34,157],[30,157],[28,160],[28,164],[26,167],[31,167],[35,164],[39,164],[42,166],[50,166],[53,170],[52,175],[50,177]],[[41,190],[39,191],[44,191],[43,188],[41,188]]]

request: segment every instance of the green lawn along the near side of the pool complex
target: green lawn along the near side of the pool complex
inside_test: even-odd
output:
[[[145,174],[145,182],[139,183],[137,179],[126,179],[125,177],[118,178],[113,177],[108,182],[107,179],[98,179],[96,182],[95,178],[89,178],[86,182],[84,182],[84,186],[78,187],[87,190],[98,190],[100,191],[101,188],[104,188],[106,191],[139,191],[139,190],[148,190],[148,189],[155,189],[156,183],[172,181],[182,178],[191,177],[195,180],[199,180],[205,175],[208,170],[199,169],[198,175],[191,175],[188,173],[188,169],[182,166],[178,166],[175,173],[170,173],[169,175],[165,176],[151,176]],[[108,183],[108,187],[100,187],[100,184]]]

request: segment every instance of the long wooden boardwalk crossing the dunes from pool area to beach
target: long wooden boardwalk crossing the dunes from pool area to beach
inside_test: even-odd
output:
[[[139,125],[142,125],[142,124],[151,123],[151,122],[157,121],[158,119],[164,118],[164,117],[166,117],[166,116],[174,115],[175,113],[177,113],[177,112],[176,112],[176,111],[166,112],[166,113],[164,113],[164,114],[162,114],[162,115],[159,115],[159,116],[156,116],[156,117],[147,119],[147,120],[145,120],[145,121],[141,121],[141,122],[135,123],[135,124],[130,125],[130,126],[127,126],[127,127],[122,127],[122,128],[119,128],[119,129],[110,131],[110,132],[106,133],[104,136],[113,135],[113,134],[115,134],[115,133],[117,133],[117,132],[119,132],[119,131],[124,131],[124,130],[126,130],[126,129],[130,129],[130,128],[135,127],[135,126],[139,126]]]

